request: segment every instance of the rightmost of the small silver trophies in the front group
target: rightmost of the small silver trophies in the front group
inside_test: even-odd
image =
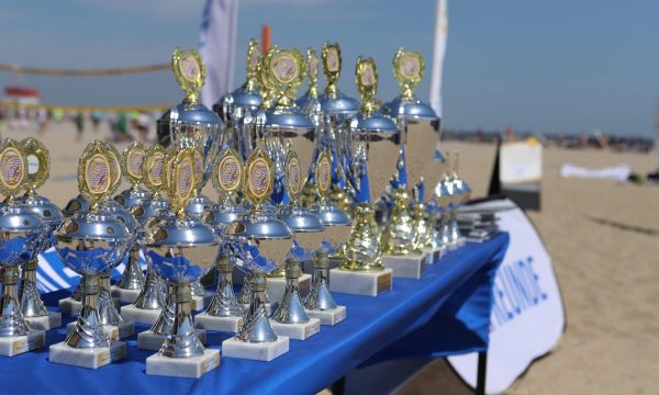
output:
[[[336,325],[346,318],[346,307],[337,305],[330,291],[328,256],[348,239],[350,218],[327,198],[332,188],[332,155],[327,148],[320,150],[314,169],[319,200],[311,211],[321,218],[325,229],[323,245],[313,258],[313,280],[304,307],[309,316],[319,318],[322,325]]]

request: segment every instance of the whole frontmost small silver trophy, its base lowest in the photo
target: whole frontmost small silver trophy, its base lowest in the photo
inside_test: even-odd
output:
[[[186,207],[198,188],[193,149],[180,149],[165,163],[165,183],[176,215],[153,224],[145,239],[154,268],[175,300],[171,332],[160,350],[146,359],[146,374],[200,377],[220,365],[220,350],[204,349],[192,318],[191,282],[214,263],[217,236]]]

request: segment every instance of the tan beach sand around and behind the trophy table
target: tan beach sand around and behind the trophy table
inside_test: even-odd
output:
[[[40,193],[63,206],[77,194],[77,160],[92,138],[75,142],[72,123],[52,124],[44,136],[2,131],[3,137],[40,137],[52,155],[51,180]],[[126,144],[118,145],[122,150]],[[460,151],[460,173],[484,196],[495,147],[445,143]],[[627,162],[638,173],[655,169],[650,155],[545,150],[540,212],[529,216],[552,258],[567,311],[556,350],[535,362],[511,394],[641,394],[659,387],[659,185],[560,179],[565,162],[604,167]],[[121,189],[127,188],[127,184]],[[206,187],[208,188],[208,187]],[[209,196],[215,196],[211,190]],[[439,360],[410,381],[402,394],[468,394]]]

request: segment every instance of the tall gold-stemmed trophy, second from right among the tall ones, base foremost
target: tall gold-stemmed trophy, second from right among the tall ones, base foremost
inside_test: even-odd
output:
[[[391,119],[376,111],[378,75],[372,58],[357,59],[356,81],[362,98],[361,113],[355,120],[353,158],[348,172],[358,202],[345,259],[330,271],[333,292],[377,296],[391,289],[391,269],[382,266],[380,232],[371,202],[377,201],[395,168],[400,131]]]

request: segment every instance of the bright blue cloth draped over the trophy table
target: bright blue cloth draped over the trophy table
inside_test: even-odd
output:
[[[380,360],[481,351],[488,345],[492,278],[507,242],[507,234],[469,242],[428,266],[421,280],[394,279],[393,290],[378,297],[336,293],[336,302],[347,306],[347,319],[323,326],[308,340],[291,340],[290,351],[271,362],[222,358],[220,368],[199,380],[149,376],[145,360],[153,351],[138,350],[133,337],[125,360],[98,370],[49,363],[47,347],[0,357],[0,381],[23,394],[310,394]],[[44,300],[55,306],[66,295],[60,291]],[[64,336],[64,328],[51,330],[46,345]],[[228,337],[211,332],[208,341],[220,348]]]

